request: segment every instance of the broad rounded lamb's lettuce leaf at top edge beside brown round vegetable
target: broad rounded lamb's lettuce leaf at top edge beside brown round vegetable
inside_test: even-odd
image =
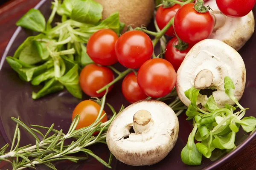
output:
[[[102,19],[102,11],[103,7],[94,0],[73,0],[70,17],[81,23],[96,24]]]

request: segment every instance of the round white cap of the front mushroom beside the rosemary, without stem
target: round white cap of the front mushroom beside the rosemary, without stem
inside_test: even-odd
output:
[[[151,113],[151,127],[146,133],[130,133],[134,113]],[[175,112],[163,102],[141,100],[119,113],[108,128],[108,148],[119,161],[133,166],[151,165],[164,159],[174,147],[179,132]],[[124,138],[124,137],[128,138]]]

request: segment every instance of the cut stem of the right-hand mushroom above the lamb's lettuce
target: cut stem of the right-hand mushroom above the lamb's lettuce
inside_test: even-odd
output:
[[[201,70],[195,77],[194,87],[197,89],[209,88],[213,83],[213,74],[211,71]]]

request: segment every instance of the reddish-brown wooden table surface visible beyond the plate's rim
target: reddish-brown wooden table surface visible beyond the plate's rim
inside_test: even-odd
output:
[[[0,58],[17,26],[16,21],[40,0],[11,0],[0,6]],[[0,135],[0,147],[4,145]],[[1,168],[1,166],[0,166]],[[256,170],[256,139],[250,142],[241,153],[218,170]]]

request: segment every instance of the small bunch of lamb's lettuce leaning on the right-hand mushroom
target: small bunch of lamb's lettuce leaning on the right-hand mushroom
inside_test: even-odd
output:
[[[244,117],[247,109],[234,96],[235,86],[232,79],[225,77],[224,83],[226,95],[237,107],[226,104],[225,108],[219,108],[214,97],[210,96],[204,105],[207,111],[204,111],[196,104],[200,90],[192,87],[185,91],[186,97],[191,101],[186,115],[195,124],[186,146],[181,151],[181,159],[185,164],[200,165],[202,156],[214,160],[223,153],[232,151],[236,148],[235,137],[240,126],[247,133],[256,127],[255,117]],[[238,108],[240,111],[236,111]],[[198,141],[196,144],[194,139]]]

